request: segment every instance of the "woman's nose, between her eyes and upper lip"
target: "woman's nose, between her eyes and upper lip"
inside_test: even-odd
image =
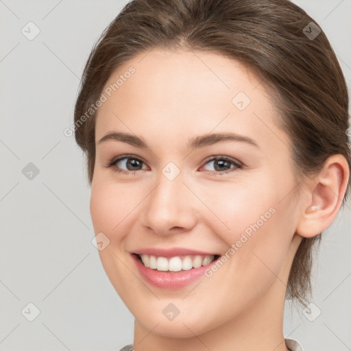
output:
[[[160,235],[191,230],[196,223],[195,195],[184,184],[182,172],[173,180],[160,172],[154,184],[144,203],[143,225]]]

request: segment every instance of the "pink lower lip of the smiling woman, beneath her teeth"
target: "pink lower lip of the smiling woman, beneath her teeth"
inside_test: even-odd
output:
[[[141,276],[150,284],[162,289],[180,289],[186,287],[186,285],[190,285],[195,280],[204,276],[206,269],[215,262],[212,261],[206,266],[192,268],[187,271],[170,272],[145,267],[136,254],[132,254],[132,259],[136,263]]]

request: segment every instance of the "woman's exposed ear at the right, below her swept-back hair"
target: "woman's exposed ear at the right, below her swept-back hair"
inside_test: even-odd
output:
[[[341,154],[330,156],[319,174],[308,182],[296,233],[311,238],[330,226],[339,213],[350,177],[348,162]]]

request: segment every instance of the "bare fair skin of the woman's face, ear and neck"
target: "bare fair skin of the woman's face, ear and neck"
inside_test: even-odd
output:
[[[134,349],[288,350],[282,324],[291,263],[302,237],[337,216],[349,177],[345,158],[330,157],[298,195],[289,135],[245,66],[214,52],[156,48],[119,67],[106,86],[130,66],[136,72],[99,108],[95,140],[125,132],[149,149],[97,143],[90,213],[95,233],[110,240],[99,251],[106,274],[135,317]],[[232,104],[240,91],[251,100],[244,110]],[[190,138],[215,132],[250,136],[259,148],[238,141],[186,147]],[[143,161],[136,172],[125,160],[104,167],[125,154]],[[220,174],[210,156],[244,167],[229,163]],[[180,170],[174,180],[162,174],[169,162]],[[274,215],[213,276],[182,289],[149,285],[132,261],[142,247],[224,254],[271,207]],[[162,314],[169,303],[180,311],[172,321]]]

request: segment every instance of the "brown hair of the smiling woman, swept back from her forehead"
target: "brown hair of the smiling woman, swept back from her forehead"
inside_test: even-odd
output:
[[[75,140],[86,153],[90,184],[96,112],[89,108],[115,69],[153,47],[215,51],[261,77],[274,92],[278,123],[293,141],[298,185],[333,154],[343,155],[351,169],[345,78],[326,35],[311,22],[288,0],[130,1],[95,43],[75,104]],[[351,178],[342,206],[350,184]],[[287,298],[304,305],[311,294],[313,244],[320,234],[302,239],[289,275]]]

